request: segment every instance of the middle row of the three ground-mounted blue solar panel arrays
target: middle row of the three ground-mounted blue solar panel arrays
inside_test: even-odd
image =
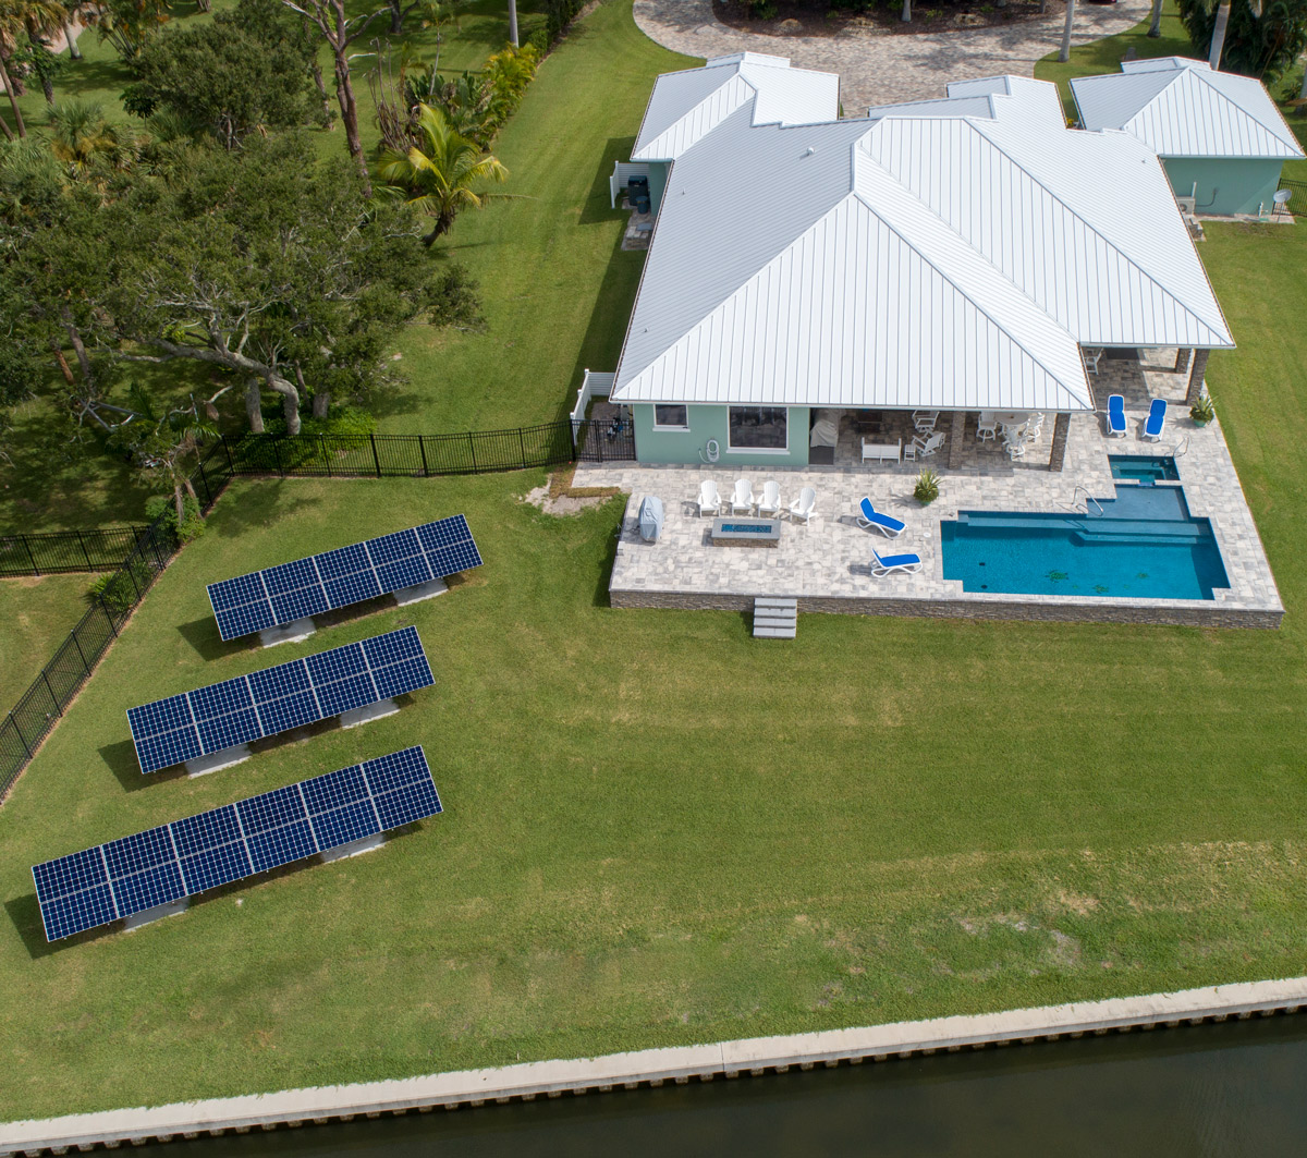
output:
[[[403,627],[129,708],[142,772],[339,716],[435,680],[417,627]]]

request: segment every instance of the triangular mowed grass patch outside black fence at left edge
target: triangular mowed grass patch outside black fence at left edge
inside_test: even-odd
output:
[[[0,579],[0,712],[9,711],[86,610],[94,575]]]

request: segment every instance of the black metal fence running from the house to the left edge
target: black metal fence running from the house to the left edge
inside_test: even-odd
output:
[[[392,434],[357,438],[320,438],[298,435],[273,438],[251,435],[238,443],[218,439],[196,467],[191,482],[201,507],[208,511],[222,488],[237,474],[277,474],[324,478],[357,478],[363,476],[418,477],[438,474],[481,474],[490,471],[520,471],[527,467],[554,467],[562,463],[612,463],[635,459],[635,438],[627,418],[595,422],[549,422],[514,430],[484,430],[468,434]],[[27,766],[38,745],[81,690],[95,663],[118,637],[123,623],[154,586],[175,550],[166,528],[166,516],[149,527],[107,528],[82,532],[88,546],[81,557],[67,566],[47,566],[56,558],[39,550],[27,555],[27,542],[63,538],[51,536],[10,536],[0,538],[0,574],[46,574],[55,570],[84,571],[97,558],[93,536],[106,536],[102,553],[111,550],[110,536],[122,533],[123,550],[114,563],[98,570],[118,570],[106,583],[105,593],[81,617],[77,626],[42,669],[3,721],[0,721],[0,799],[3,799]],[[77,542],[78,533],[68,532],[67,549]],[[13,544],[13,546],[10,546]],[[55,550],[54,546],[50,548]],[[78,548],[81,550],[81,548]],[[38,562],[44,559],[44,562]],[[97,567],[90,567],[97,570]]]

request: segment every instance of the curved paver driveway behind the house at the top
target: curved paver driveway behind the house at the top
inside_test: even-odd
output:
[[[1080,4],[1073,41],[1085,44],[1133,27],[1148,0]],[[1012,27],[893,35],[863,27],[830,37],[741,33],[712,14],[712,0],[635,0],[635,24],[667,48],[687,56],[770,52],[801,68],[838,72],[846,116],[870,105],[942,97],[949,81],[1010,72],[1031,76],[1035,61],[1061,43],[1061,14]]]

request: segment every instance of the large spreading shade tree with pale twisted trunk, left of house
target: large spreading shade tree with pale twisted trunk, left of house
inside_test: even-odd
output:
[[[301,133],[212,152],[174,182],[122,180],[116,196],[71,197],[3,271],[41,319],[69,314],[93,374],[97,358],[207,365],[225,382],[209,401],[243,389],[261,430],[271,392],[295,434],[308,396],[324,412],[397,384],[386,349],[405,323],[476,320],[461,268],[425,252],[418,216],[372,204],[344,159],[318,163]],[[80,397],[105,425],[102,396]]]

